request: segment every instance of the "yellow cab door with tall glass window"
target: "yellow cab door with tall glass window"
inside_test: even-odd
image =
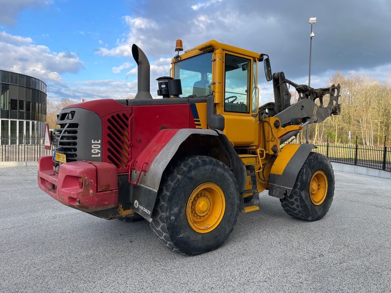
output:
[[[223,132],[235,146],[255,145],[258,126],[256,61],[244,55],[224,52],[222,67]]]

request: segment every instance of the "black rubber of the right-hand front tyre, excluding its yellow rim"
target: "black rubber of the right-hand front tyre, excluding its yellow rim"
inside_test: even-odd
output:
[[[317,171],[323,171],[327,178],[326,197],[319,205],[310,198],[310,180]],[[334,197],[334,172],[330,161],[322,154],[311,152],[301,167],[292,192],[280,199],[284,211],[294,218],[317,221],[323,218]]]

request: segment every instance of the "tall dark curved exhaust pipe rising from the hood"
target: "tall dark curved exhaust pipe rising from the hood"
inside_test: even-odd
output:
[[[132,55],[137,63],[137,94],[135,99],[151,99],[148,58],[136,44],[132,46]]]

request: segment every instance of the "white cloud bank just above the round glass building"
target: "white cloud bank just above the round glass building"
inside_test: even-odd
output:
[[[73,52],[52,52],[47,46],[34,45],[31,38],[0,33],[1,67],[43,80],[61,80],[65,72],[77,73],[83,62]]]

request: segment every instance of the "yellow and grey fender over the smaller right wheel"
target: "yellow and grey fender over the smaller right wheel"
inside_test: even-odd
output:
[[[285,192],[290,194],[296,177],[314,145],[285,145],[276,161],[274,161],[269,176],[269,195],[283,198]]]

